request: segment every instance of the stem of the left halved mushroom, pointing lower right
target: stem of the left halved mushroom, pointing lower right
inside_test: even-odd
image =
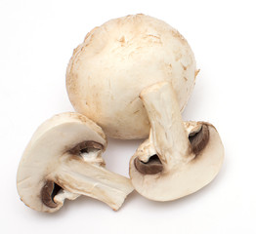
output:
[[[114,211],[121,207],[126,196],[133,190],[127,177],[109,172],[77,156],[64,157],[54,177],[55,182],[64,190],[96,198]]]

